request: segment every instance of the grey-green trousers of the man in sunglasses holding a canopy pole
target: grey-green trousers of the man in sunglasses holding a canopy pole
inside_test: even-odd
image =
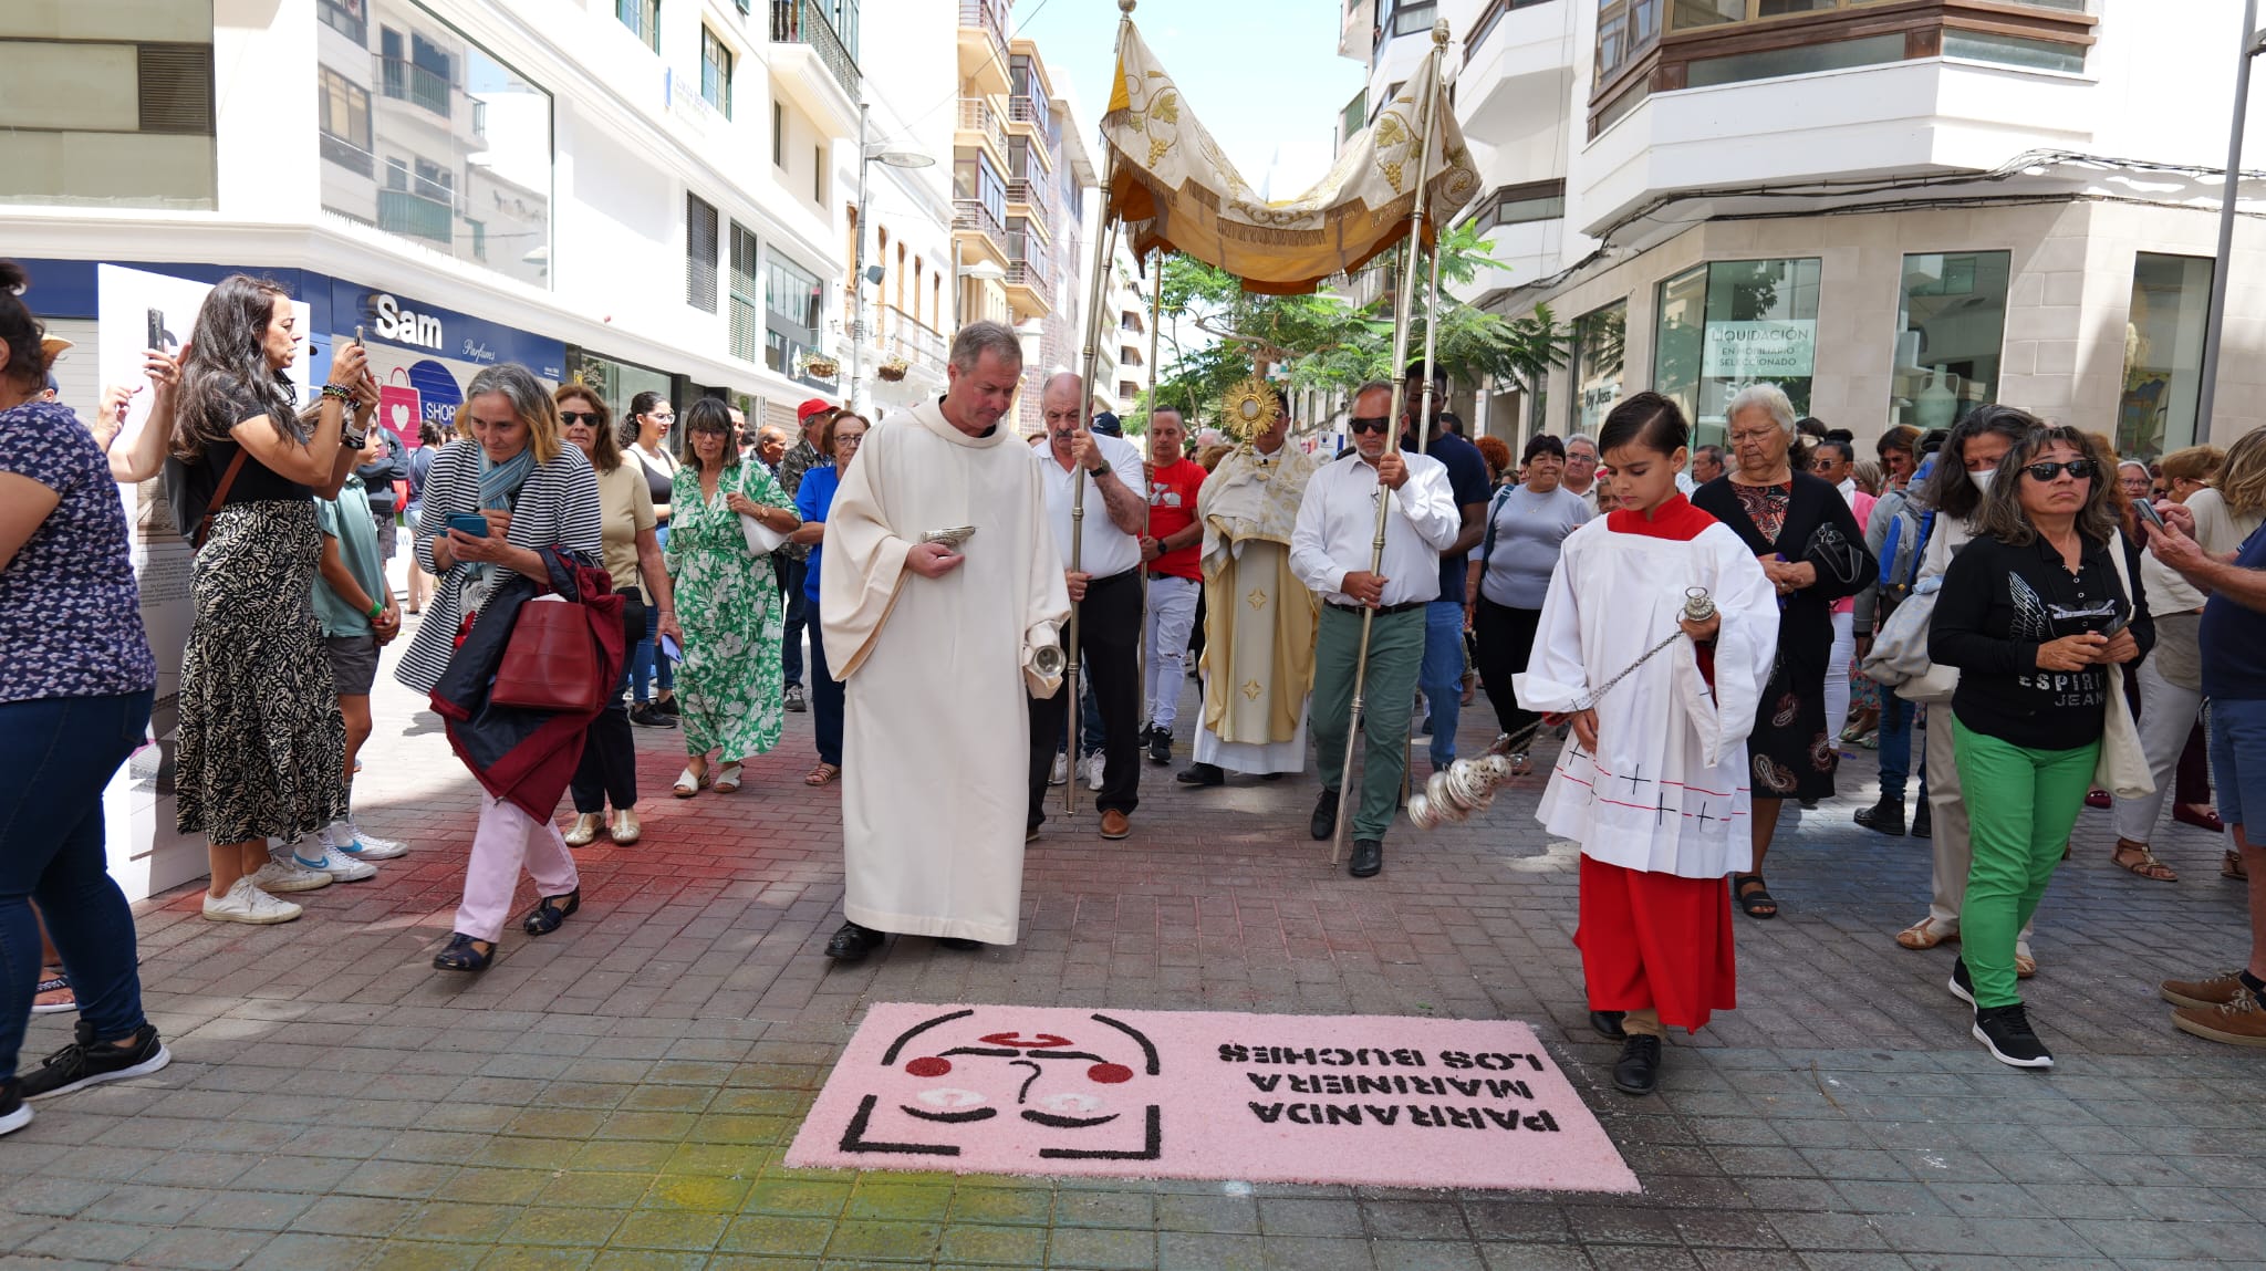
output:
[[[1314,632],[1314,754],[1321,788],[1335,791],[1346,770],[1346,730],[1353,714],[1353,662],[1362,652],[1362,619],[1323,605]],[[1353,838],[1385,838],[1400,800],[1400,777],[1409,766],[1409,709],[1416,671],[1423,666],[1423,607],[1378,614],[1369,632],[1369,680],[1362,684],[1362,800],[1353,811]],[[1339,804],[1339,816],[1344,816]]]

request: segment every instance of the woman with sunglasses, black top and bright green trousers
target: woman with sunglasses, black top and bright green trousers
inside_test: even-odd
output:
[[[1935,598],[1928,657],[1960,668],[1953,759],[1971,863],[1951,995],[1999,1063],[2053,1067],[2014,986],[2030,922],[2085,807],[2112,700],[2107,668],[2155,643],[2116,474],[2073,428],[2033,428],[1983,494],[1976,539]]]

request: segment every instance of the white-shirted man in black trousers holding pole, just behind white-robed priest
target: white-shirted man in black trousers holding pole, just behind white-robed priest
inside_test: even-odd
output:
[[[1101,711],[1101,736],[1081,739],[1081,745],[1099,741],[1101,750],[1101,791],[1094,795],[1101,836],[1124,838],[1133,834],[1131,818],[1140,804],[1140,535],[1149,528],[1149,485],[1133,442],[1085,428],[1085,385],[1076,374],[1049,378],[1038,408],[1047,444],[1031,451],[1031,464],[1047,496],[1047,523],[1065,564],[1070,603],[1079,607],[1079,673],[1092,680]],[[1085,514],[1072,519],[1081,480]],[[1076,569],[1067,569],[1072,530]],[[1047,820],[1047,775],[1065,727],[1065,693],[1031,702],[1031,813],[1024,838],[1036,838]]]

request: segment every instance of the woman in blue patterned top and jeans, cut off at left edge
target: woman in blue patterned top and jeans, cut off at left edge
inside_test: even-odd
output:
[[[170,1056],[143,1017],[134,911],[109,875],[102,788],[143,743],[156,662],[109,460],[41,401],[39,319],[0,261],[0,1135],[25,1099],[140,1076]],[[170,410],[172,365],[154,358]],[[16,1076],[39,983],[39,902],[77,990],[77,1042]]]

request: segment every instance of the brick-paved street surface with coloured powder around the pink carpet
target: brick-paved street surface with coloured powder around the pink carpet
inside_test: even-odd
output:
[[[1017,947],[904,938],[832,967],[841,841],[836,791],[800,782],[809,716],[741,793],[684,802],[680,734],[639,730],[644,843],[580,852],[582,913],[462,979],[428,958],[476,788],[417,707],[383,680],[358,797],[415,854],[286,927],[204,922],[197,888],[143,906],[174,1063],[0,1142],[0,1266],[2266,1266],[2266,1056],[2175,1033],[2155,999],[2243,949],[2241,893],[2193,829],[2157,836],[2166,886],[2112,870],[2107,816],[2085,813],[2026,988],[2060,1065],[2012,1072],[1942,988],[1953,949],[1890,940],[1924,911],[1928,852],[1849,822],[1874,791],[1858,752],[1845,797],[1788,813],[1786,915],[1733,920],[1740,1010],[1677,1038],[1638,1101],[1584,1022],[1575,859],[1532,818],[1539,779],[1473,825],[1398,827],[1355,881],[1305,836],[1312,777],[1187,791],[1144,766],[1133,838],[1088,811],[1031,845]],[[1473,752],[1484,698],[1464,723]],[[870,1001],[1527,1020],[1645,1192],[784,1169]],[[27,1060],[68,1020],[34,1022]]]

